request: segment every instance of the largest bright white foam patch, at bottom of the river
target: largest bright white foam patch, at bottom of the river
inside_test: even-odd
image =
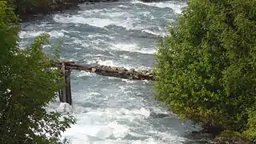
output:
[[[115,138],[110,143],[120,141],[130,133],[130,127],[117,122],[118,119],[133,121],[142,120],[150,116],[146,108],[128,110],[125,108],[98,108],[87,113],[77,114],[78,122],[66,130],[62,136],[70,138],[73,144],[78,142],[108,142],[108,138]],[[91,138],[94,138],[91,139]],[[80,144],[80,143],[79,143]]]

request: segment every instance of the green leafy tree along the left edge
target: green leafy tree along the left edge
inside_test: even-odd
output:
[[[49,35],[20,50],[18,18],[2,1],[0,30],[0,143],[57,143],[74,118],[46,111],[62,86],[54,59],[42,52]]]

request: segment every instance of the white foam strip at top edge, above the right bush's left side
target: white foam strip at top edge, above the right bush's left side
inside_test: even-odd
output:
[[[180,3],[174,3],[171,1],[167,1],[167,2],[142,2],[142,1],[138,1],[138,0],[133,0],[132,3],[139,3],[139,4],[143,4],[146,6],[154,6],[154,7],[159,7],[159,8],[170,8],[172,10],[174,10],[174,12],[176,14],[182,14],[182,8],[186,7],[187,4],[186,2],[180,2]]]

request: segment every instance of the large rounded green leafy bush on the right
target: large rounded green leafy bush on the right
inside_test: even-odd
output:
[[[182,118],[245,130],[256,102],[256,1],[188,3],[159,42],[156,98]]]

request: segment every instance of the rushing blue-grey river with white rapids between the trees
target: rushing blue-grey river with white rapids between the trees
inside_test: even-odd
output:
[[[180,1],[84,4],[22,23],[20,46],[48,33],[54,45],[63,42],[66,60],[150,69],[158,36],[166,34],[166,25],[185,6]],[[44,46],[44,50],[53,47]],[[198,130],[192,122],[181,122],[156,107],[152,82],[73,71],[71,85],[78,122],[63,136],[74,144],[209,142],[207,137],[190,134]]]

